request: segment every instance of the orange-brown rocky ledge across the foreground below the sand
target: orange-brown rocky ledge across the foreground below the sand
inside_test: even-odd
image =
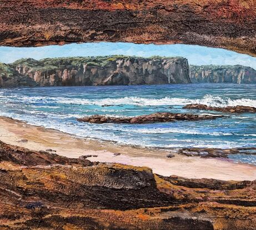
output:
[[[256,228],[256,181],[164,177],[0,141],[0,229]]]

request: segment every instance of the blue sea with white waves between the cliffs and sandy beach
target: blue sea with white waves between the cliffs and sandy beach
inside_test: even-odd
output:
[[[222,114],[182,109],[191,103],[256,107],[256,85],[84,86],[0,90],[0,115],[78,136],[140,146],[256,147],[256,114],[252,113],[225,114],[227,117],[216,120],[145,125],[99,125],[76,121],[77,117],[93,114],[136,116],[164,111]]]

